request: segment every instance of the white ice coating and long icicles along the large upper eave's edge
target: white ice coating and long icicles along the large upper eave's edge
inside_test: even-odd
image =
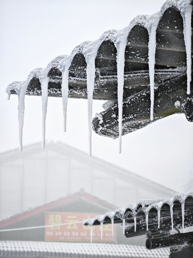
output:
[[[18,104],[18,120],[19,120],[19,142],[20,150],[22,150],[22,131],[24,121],[24,99],[25,92],[30,83],[30,80],[35,77],[40,80],[42,87],[42,135],[43,148],[45,146],[45,121],[48,101],[48,73],[52,67],[56,67],[62,72],[62,103],[64,116],[64,131],[66,131],[66,112],[68,103],[68,69],[74,56],[78,53],[83,54],[87,63],[87,97],[88,97],[88,138],[89,138],[89,155],[91,155],[91,135],[92,135],[92,103],[93,89],[95,80],[95,58],[97,51],[103,41],[110,40],[114,43],[117,49],[117,78],[118,78],[118,109],[119,109],[119,153],[121,153],[121,138],[122,138],[122,104],[123,104],[123,85],[124,85],[124,64],[125,64],[125,47],[127,38],[131,29],[135,25],[141,25],[146,28],[149,34],[148,43],[148,59],[149,59],[149,76],[150,76],[150,119],[153,120],[153,105],[154,105],[154,65],[156,51],[156,29],[163,13],[168,8],[176,8],[180,11],[183,18],[184,26],[184,41],[187,56],[187,94],[190,94],[191,81],[191,12],[192,5],[190,0],[167,0],[160,12],[154,15],[139,15],[134,18],[130,24],[122,30],[109,30],[102,34],[96,41],[86,41],[74,48],[69,56],[59,56],[52,60],[45,69],[37,68],[33,70],[24,82],[11,83],[6,92],[8,99],[10,91],[14,90],[19,98]]]

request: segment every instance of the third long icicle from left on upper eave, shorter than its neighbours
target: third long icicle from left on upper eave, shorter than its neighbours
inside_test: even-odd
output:
[[[64,119],[64,132],[66,132],[66,113],[68,105],[68,67],[62,72],[62,107]]]

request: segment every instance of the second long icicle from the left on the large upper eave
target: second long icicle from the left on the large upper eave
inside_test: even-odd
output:
[[[46,113],[48,105],[48,82],[49,78],[46,76],[42,81],[42,148],[45,148],[45,133],[46,133]]]

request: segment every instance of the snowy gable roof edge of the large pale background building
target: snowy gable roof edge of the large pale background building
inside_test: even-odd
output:
[[[105,160],[97,158],[93,155],[91,157],[88,157],[88,154],[86,152],[76,149],[60,141],[56,143],[53,141],[47,142],[45,149],[41,148],[41,142],[37,142],[31,145],[26,145],[23,148],[22,152],[19,152],[18,149],[14,149],[11,151],[0,153],[0,164],[8,162],[13,159],[24,158],[28,155],[31,155],[32,149],[34,153],[43,152],[43,151],[52,149],[68,157],[75,157],[79,161],[84,162],[90,166],[95,166],[96,168],[99,168],[101,171],[109,175],[112,175],[119,179],[127,181],[128,183],[135,183],[139,187],[143,189],[147,189],[148,191],[151,190],[152,192],[156,192],[157,194],[160,193],[162,194],[162,196],[165,196],[166,198],[172,197],[175,194],[177,194],[176,191],[169,189],[163,185],[160,185],[154,181],[151,181],[147,178],[144,178],[141,175],[137,175],[125,168],[114,165],[110,162],[106,162]]]

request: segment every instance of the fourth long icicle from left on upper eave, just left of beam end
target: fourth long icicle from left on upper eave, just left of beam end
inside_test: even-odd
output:
[[[93,90],[95,78],[95,55],[86,58],[87,62],[87,98],[88,98],[88,141],[89,141],[89,156],[92,149],[92,110],[93,110]]]

